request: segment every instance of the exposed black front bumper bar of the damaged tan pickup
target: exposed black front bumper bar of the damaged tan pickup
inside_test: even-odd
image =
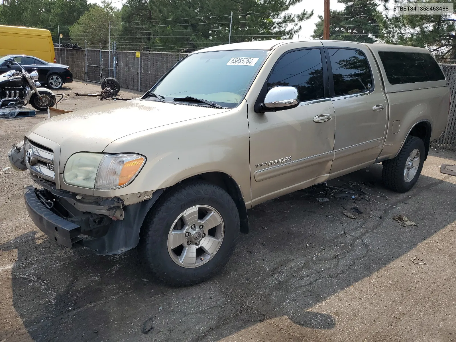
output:
[[[36,197],[33,185],[24,187],[24,200],[31,220],[49,238],[69,248],[84,246],[83,239],[79,237],[81,226],[69,222],[49,210]]]

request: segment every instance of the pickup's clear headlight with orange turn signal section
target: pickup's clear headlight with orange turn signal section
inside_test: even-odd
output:
[[[67,184],[97,190],[124,187],[132,181],[145,157],[132,153],[105,155],[80,152],[68,158],[63,179]]]

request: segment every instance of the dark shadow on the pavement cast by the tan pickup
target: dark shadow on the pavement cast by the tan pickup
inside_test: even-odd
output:
[[[13,305],[35,341],[214,341],[278,316],[330,329],[333,316],[307,309],[456,220],[456,212],[439,204],[454,196],[454,184],[421,176],[412,191],[394,194],[380,186],[380,176],[374,165],[332,184],[369,184],[366,191],[390,197],[379,202],[399,209],[363,196],[317,202],[325,197],[317,187],[271,200],[249,210],[250,233],[241,235],[227,267],[187,288],[151,280],[135,251],[102,257],[26,233],[0,246],[18,253]],[[351,207],[363,214],[341,214]],[[418,227],[401,227],[393,213]]]

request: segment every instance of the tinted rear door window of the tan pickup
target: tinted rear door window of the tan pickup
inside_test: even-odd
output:
[[[372,88],[369,64],[363,52],[348,49],[328,49],[328,52],[336,96],[361,93]]]

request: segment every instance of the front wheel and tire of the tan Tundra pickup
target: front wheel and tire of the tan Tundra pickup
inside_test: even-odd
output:
[[[140,252],[156,278],[172,286],[215,275],[233,253],[239,213],[222,188],[201,181],[171,188],[142,227]]]

